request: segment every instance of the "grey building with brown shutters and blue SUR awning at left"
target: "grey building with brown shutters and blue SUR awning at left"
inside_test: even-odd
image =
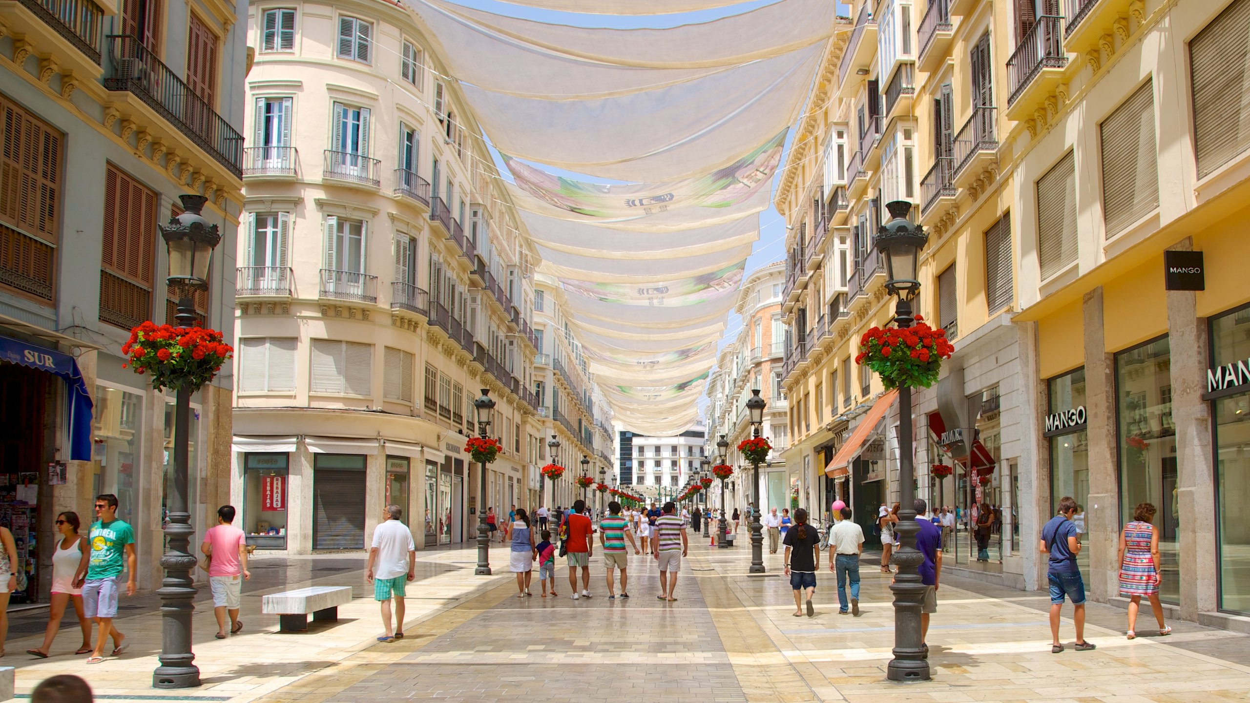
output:
[[[230,339],[242,210],[244,33],[219,1],[19,0],[0,9],[0,522],[46,602],[58,510],[98,493],[135,525],[140,589],[160,587],[174,392],[124,368],[144,320],[174,321],[158,229],[206,199],[222,235],[200,323]],[[232,340],[231,340],[232,343]],[[196,532],[229,500],[229,369],[191,400]]]

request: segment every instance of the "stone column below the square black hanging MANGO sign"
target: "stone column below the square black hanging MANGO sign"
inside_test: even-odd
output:
[[[1189,251],[1185,238],[1169,249]],[[1186,620],[1216,608],[1215,463],[1210,404],[1202,400],[1208,364],[1206,318],[1195,293],[1168,291],[1172,423],[1176,425],[1176,503],[1180,515],[1180,613]]]

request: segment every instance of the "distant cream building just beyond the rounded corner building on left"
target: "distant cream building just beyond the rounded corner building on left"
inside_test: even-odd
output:
[[[611,457],[615,454],[614,433],[609,429],[612,415],[586,368],[559,281],[539,274],[534,281],[534,334],[539,350],[534,359],[534,393],[542,432],[542,464],[555,463],[566,469],[556,482],[542,479],[541,503],[548,508],[569,507],[582,495],[574,484],[574,479],[582,473],[595,482],[616,482],[610,475]],[[560,443],[554,455],[550,448],[552,440]]]

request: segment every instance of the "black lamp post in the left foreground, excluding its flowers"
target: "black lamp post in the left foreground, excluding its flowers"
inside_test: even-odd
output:
[[[168,225],[158,225],[169,250],[169,278],[166,283],[178,289],[178,314],[180,326],[195,323],[192,290],[209,286],[209,261],[212,249],[221,241],[218,225],[208,224],[200,215],[208,198],[181,195],[184,213],[171,218]],[[191,569],[196,558],[188,550],[191,534],[191,514],[188,512],[186,487],[190,467],[191,393],[195,389],[182,383],[178,387],[174,410],[174,489],[168,497],[169,524],[165,525],[165,554],[160,565],[165,569],[161,588],[156,590],[161,605],[160,665],[152,672],[152,688],[191,688],[200,685],[200,668],[192,664],[191,652],[191,599],[195,585]]]

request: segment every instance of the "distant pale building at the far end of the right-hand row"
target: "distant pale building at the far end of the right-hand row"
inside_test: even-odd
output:
[[[746,278],[735,306],[741,329],[734,341],[721,349],[715,377],[708,387],[711,399],[709,417],[714,419],[709,444],[715,454],[721,434],[729,442],[726,463],[739,473],[726,482],[725,488],[734,498],[726,504],[742,510],[751,499],[751,465],[738,453],[738,444],[751,438],[746,400],[754,389],[759,389],[760,398],[768,403],[760,433],[772,445],[768,463],[760,465],[761,510],[789,508],[792,495],[806,492],[801,459],[790,460],[796,454],[789,452],[789,399],[781,385],[786,339],[781,318],[784,285],[785,264],[781,261],[761,266]]]

